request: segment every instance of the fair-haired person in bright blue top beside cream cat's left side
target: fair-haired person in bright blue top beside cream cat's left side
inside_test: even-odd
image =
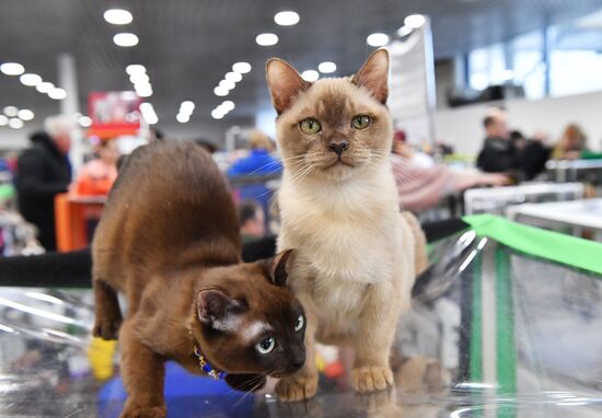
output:
[[[228,177],[266,176],[282,172],[282,163],[271,155],[274,144],[267,135],[261,130],[254,130],[251,133],[248,147],[251,149],[248,155],[232,164],[228,170]],[[255,200],[262,206],[264,213],[268,212],[271,190],[265,183],[240,186],[239,194],[241,199]]]

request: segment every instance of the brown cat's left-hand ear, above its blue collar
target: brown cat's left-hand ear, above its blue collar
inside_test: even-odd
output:
[[[220,289],[200,290],[196,297],[197,316],[201,324],[227,332],[234,328],[235,315],[243,305]]]

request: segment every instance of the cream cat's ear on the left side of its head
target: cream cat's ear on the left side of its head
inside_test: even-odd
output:
[[[271,104],[280,115],[288,109],[294,98],[310,88],[290,63],[279,58],[271,58],[266,63],[266,80],[271,95]]]

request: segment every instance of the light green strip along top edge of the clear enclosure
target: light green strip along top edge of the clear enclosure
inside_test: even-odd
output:
[[[511,222],[493,214],[462,218],[482,236],[513,249],[602,275],[602,243]]]

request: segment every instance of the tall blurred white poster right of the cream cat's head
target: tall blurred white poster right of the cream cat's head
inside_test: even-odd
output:
[[[389,108],[395,129],[410,143],[435,141],[435,62],[432,36],[427,20],[422,26],[389,46],[391,77]]]

